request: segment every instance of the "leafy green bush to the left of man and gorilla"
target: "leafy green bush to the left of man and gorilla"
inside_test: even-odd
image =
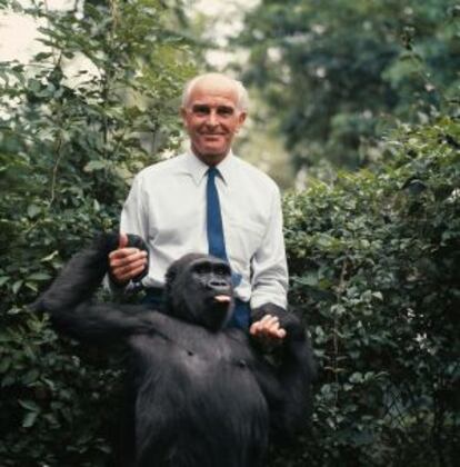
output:
[[[177,147],[193,66],[157,0],[22,12],[41,21],[43,51],[0,63],[0,465],[94,467],[114,436],[118,367],[26,305],[88,238],[117,229],[149,155]]]

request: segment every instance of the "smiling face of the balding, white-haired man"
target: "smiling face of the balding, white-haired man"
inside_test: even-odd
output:
[[[193,153],[208,165],[217,165],[227,156],[246,119],[237,109],[237,98],[228,81],[200,81],[181,110]]]

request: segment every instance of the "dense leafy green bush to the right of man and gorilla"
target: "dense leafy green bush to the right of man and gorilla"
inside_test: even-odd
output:
[[[459,148],[457,121],[401,129],[378,173],[286,197],[291,302],[320,366],[312,427],[288,465],[454,465]]]

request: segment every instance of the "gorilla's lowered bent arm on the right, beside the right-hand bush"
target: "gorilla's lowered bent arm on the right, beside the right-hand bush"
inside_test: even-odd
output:
[[[252,311],[254,320],[264,315],[277,316],[287,336],[279,349],[279,365],[273,368],[260,365],[257,377],[270,406],[274,440],[292,438],[309,418],[311,384],[316,369],[310,342],[299,318],[273,304],[266,304]]]

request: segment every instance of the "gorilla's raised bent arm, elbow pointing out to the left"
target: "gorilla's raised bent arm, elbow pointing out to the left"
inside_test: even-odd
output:
[[[118,235],[102,236],[72,257],[51,287],[32,305],[48,311],[53,325],[79,340],[109,344],[151,329],[153,314],[142,306],[93,305],[90,299],[108,269]]]

